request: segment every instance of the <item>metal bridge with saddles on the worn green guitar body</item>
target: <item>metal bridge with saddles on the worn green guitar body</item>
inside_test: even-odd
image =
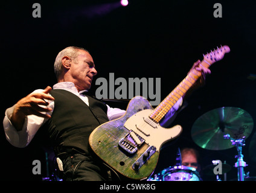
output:
[[[130,131],[125,138],[122,138],[118,145],[119,147],[123,148],[129,154],[134,154],[138,151],[138,148],[144,143],[144,139],[141,138],[138,134],[134,131]]]

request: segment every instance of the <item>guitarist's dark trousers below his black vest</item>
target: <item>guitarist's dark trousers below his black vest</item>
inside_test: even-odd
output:
[[[110,171],[100,163],[95,163],[91,156],[69,154],[62,158],[65,181],[108,181]]]

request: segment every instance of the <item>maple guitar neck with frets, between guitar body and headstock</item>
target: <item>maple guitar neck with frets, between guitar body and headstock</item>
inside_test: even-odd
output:
[[[203,60],[200,65],[205,68],[209,68],[211,66],[210,62]],[[176,86],[176,88],[165,97],[165,99],[153,110],[150,114],[150,119],[155,122],[161,121],[161,119],[167,114],[167,112],[177,103],[177,101],[185,96],[185,93],[196,83],[198,78],[201,76],[201,72],[193,69],[190,73],[188,73],[187,77],[181,81],[181,83]]]

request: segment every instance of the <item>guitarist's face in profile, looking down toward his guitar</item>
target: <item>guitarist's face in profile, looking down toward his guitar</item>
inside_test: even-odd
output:
[[[78,91],[88,90],[92,85],[92,78],[97,74],[92,56],[83,50],[79,50],[77,59],[71,63],[71,72],[73,83]]]

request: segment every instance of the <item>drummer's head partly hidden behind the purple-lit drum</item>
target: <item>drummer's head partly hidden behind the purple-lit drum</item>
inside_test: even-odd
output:
[[[198,163],[199,153],[194,148],[184,148],[181,150],[182,165],[191,168],[196,168],[197,172],[200,172],[200,166]]]

